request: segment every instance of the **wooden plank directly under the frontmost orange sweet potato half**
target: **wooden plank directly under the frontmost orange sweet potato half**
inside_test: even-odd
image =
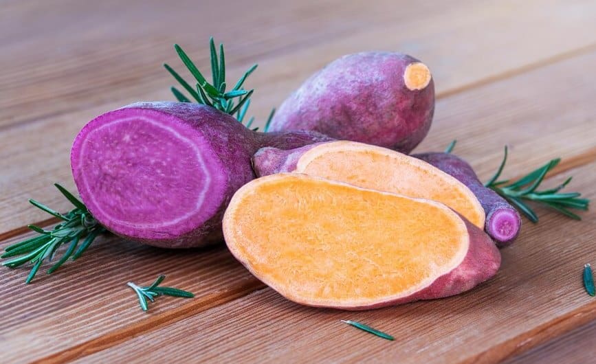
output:
[[[594,168],[596,163],[571,173],[591,198],[596,196]],[[493,280],[463,295],[344,312],[299,306],[265,289],[84,361],[160,361],[175,354],[181,361],[215,362],[496,363],[596,317],[596,301],[579,278],[584,262],[596,260],[589,245],[596,213],[585,217],[577,222],[545,214],[540,225],[525,227],[518,242],[503,249],[503,267]],[[396,341],[360,332],[340,319],[370,324]],[[544,326],[550,330],[536,330]],[[138,350],[148,345],[159,350]]]

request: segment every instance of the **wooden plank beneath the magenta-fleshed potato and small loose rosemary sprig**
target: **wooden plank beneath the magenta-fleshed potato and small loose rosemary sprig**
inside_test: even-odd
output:
[[[484,176],[498,165],[500,147],[505,141],[514,147],[506,176],[527,172],[538,162],[555,157],[555,153],[561,153],[563,157],[579,156],[571,159],[573,163],[577,163],[576,160],[581,163],[595,160],[596,150],[591,149],[593,142],[585,130],[593,127],[596,122],[593,118],[596,105],[591,102],[594,92],[591,82],[596,82],[596,75],[584,75],[583,71],[595,60],[596,53],[566,60],[441,100],[438,110],[442,116],[433,127],[429,140],[425,142],[426,146],[443,148],[454,135],[465,136],[457,151],[470,158],[476,168],[483,171]],[[569,72],[564,73],[566,70]],[[584,82],[566,82],[568,78],[580,79],[580,75],[586,77]],[[541,103],[534,108],[507,109],[507,106],[531,104],[535,100],[541,100]],[[573,112],[565,111],[573,102],[581,104],[582,108]],[[479,119],[481,123],[478,122]],[[566,135],[575,137],[574,143],[558,144],[560,135],[551,133],[551,127],[545,126],[563,122],[568,133]],[[494,125],[500,127],[494,128]],[[544,133],[540,131],[541,127]],[[528,137],[520,131],[526,129],[538,131]],[[493,134],[483,137],[489,131],[493,131]],[[557,149],[549,148],[551,145]],[[534,154],[529,155],[529,152]],[[582,190],[581,182],[581,178],[574,181],[573,188]],[[540,226],[549,225],[553,221],[553,218],[547,218]],[[525,229],[533,228],[527,224]],[[3,243],[5,244],[8,242]],[[1,292],[19,298],[10,302],[10,310],[8,306],[0,309],[3,319],[12,323],[10,335],[3,334],[5,345],[20,348],[19,345],[41,337],[42,327],[43,335],[53,338],[52,345],[41,345],[27,350],[25,354],[19,354],[23,360],[52,353],[58,353],[59,357],[64,354],[78,357],[98,350],[97,348],[118,343],[126,339],[127,335],[134,336],[146,331],[156,325],[156,322],[165,324],[184,317],[180,314],[176,318],[167,318],[170,308],[179,307],[184,312],[196,312],[195,310],[208,307],[203,302],[205,299],[209,302],[214,299],[231,299],[230,292],[248,293],[262,287],[221,247],[208,251],[164,251],[110,240],[98,242],[93,249],[96,250],[89,251],[84,260],[67,264],[53,276],[40,275],[41,279],[31,286],[21,284],[26,275],[24,269],[3,273],[0,287],[5,288],[0,288]],[[160,302],[147,319],[148,315],[138,310],[131,291],[123,284],[133,279],[148,282],[159,273],[170,272],[170,279],[173,280],[171,284],[199,293],[199,299],[196,303],[167,300],[163,302],[164,306]],[[92,282],[96,286],[96,292],[105,293],[97,297],[90,293],[92,286],[81,287],[80,299],[72,299],[69,298],[72,282]],[[212,294],[219,296],[214,298]],[[40,298],[28,302],[26,297]],[[46,314],[43,310],[47,307],[55,310]],[[124,312],[123,307],[126,308]],[[33,317],[35,320],[32,321]],[[89,342],[93,345],[88,344]],[[69,351],[69,347],[73,345],[76,350]],[[6,357],[18,359],[13,355],[13,352],[5,353]]]

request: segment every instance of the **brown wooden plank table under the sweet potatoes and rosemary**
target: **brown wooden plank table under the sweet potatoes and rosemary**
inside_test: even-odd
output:
[[[342,54],[412,54],[430,65],[438,91],[417,150],[458,139],[456,152],[483,179],[505,144],[507,177],[562,157],[546,184],[573,176],[571,190],[596,196],[595,1],[4,0],[0,10],[1,247],[30,236],[27,223],[51,223],[27,198],[68,208],[52,183],[74,188],[78,130],[135,100],[173,100],[162,68],[181,69],[173,43],[208,69],[210,35],[227,46],[231,77],[259,62],[249,83],[261,121]],[[2,269],[0,361],[594,360],[596,299],[580,280],[584,263],[596,264],[593,211],[577,222],[538,209],[540,223],[525,220],[503,249],[498,275],[469,293],[365,312],[287,302],[223,246],[166,251],[100,238],[27,286],[28,267]],[[196,298],[159,299],[142,312],[126,282],[159,273]]]

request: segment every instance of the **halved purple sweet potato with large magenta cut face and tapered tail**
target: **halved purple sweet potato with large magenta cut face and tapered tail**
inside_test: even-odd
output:
[[[210,106],[139,102],[91,120],[71,149],[89,212],[114,234],[165,248],[221,242],[232,194],[255,178],[264,146],[298,148],[319,133],[257,133]]]

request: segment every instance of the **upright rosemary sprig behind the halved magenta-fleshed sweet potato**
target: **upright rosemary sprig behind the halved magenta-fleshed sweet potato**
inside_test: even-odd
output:
[[[227,84],[225,82],[225,52],[223,51],[223,44],[219,44],[218,54],[213,37],[211,37],[209,40],[209,48],[212,77],[211,83],[206,80],[205,76],[203,76],[203,73],[201,73],[195,63],[190,60],[188,54],[186,54],[186,52],[184,52],[179,45],[174,45],[174,49],[176,50],[178,56],[188,71],[190,71],[192,76],[195,77],[195,81],[186,82],[184,78],[182,78],[172,67],[164,64],[166,70],[190,94],[190,98],[184,95],[184,93],[182,93],[182,91],[176,87],[170,88],[172,93],[179,102],[191,102],[190,99],[192,98],[199,104],[206,104],[218,109],[219,111],[223,111],[224,113],[234,115],[239,122],[241,122],[247,128],[250,128],[252,122],[254,121],[254,117],[251,117],[249,120],[247,120],[247,122],[244,122],[244,120],[248,106],[250,105],[250,97],[252,96],[254,89],[245,90],[243,85],[248,76],[250,76],[256,67],[258,67],[258,65],[252,65],[252,67],[245,71],[243,76],[236,82],[236,84],[234,84],[234,87],[232,87],[230,91],[225,91]],[[191,86],[190,83],[194,83],[195,85]],[[266,129],[269,126],[269,122],[273,117],[274,111],[275,109],[272,111],[271,115],[269,115],[269,120],[267,120],[265,131],[267,131]],[[257,129],[258,128],[254,128],[253,130]]]

